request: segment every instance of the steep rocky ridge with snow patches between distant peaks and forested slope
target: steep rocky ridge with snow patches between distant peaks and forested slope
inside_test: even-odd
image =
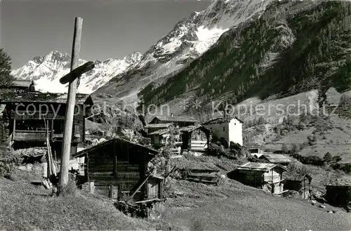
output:
[[[241,22],[256,20],[271,1],[213,0],[206,10],[195,12],[159,39],[131,70],[102,86],[94,95],[113,95],[133,103],[139,91],[150,84],[151,91],[183,70],[216,43],[223,32]]]

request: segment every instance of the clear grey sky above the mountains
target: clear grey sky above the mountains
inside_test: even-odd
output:
[[[74,18],[83,18],[80,58],[124,58],[147,51],[210,0],[0,0],[0,44],[12,67],[50,51],[71,53]]]

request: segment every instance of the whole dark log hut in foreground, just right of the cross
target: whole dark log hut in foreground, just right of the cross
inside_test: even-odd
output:
[[[162,178],[147,170],[157,154],[149,147],[114,138],[77,152],[72,158],[81,163],[81,183],[93,183],[93,193],[140,202],[163,197]]]

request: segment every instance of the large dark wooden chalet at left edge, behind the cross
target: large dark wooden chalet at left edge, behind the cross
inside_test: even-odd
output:
[[[1,140],[17,149],[44,145],[49,136],[53,152],[60,158],[67,94],[1,89],[0,103],[5,105],[2,121],[6,125]],[[84,145],[85,118],[92,105],[90,95],[77,94],[71,153]]]

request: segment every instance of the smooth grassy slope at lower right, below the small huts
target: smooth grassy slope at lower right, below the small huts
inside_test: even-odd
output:
[[[308,202],[272,197],[234,182],[216,187],[179,181],[178,197],[166,201],[166,220],[191,229],[198,220],[206,230],[349,230],[350,214],[327,213]]]

